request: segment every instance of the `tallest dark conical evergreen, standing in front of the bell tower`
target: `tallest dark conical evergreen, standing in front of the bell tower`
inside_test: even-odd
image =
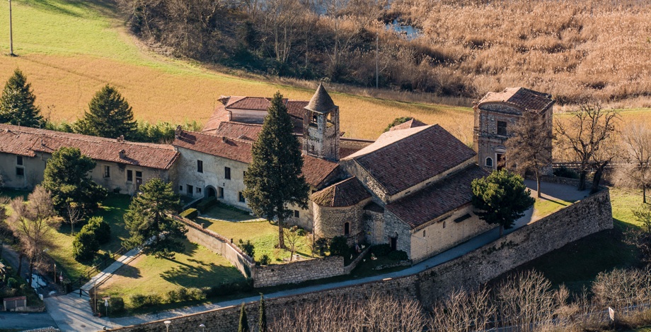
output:
[[[267,220],[278,219],[278,247],[284,248],[284,219],[292,215],[293,204],[307,207],[309,186],[301,173],[303,158],[299,141],[292,134],[294,124],[277,92],[271,100],[263,129],[253,144],[243,192],[248,206]]]

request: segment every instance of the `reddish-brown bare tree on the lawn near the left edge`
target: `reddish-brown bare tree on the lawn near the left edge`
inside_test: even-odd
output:
[[[60,219],[54,213],[50,192],[42,186],[36,186],[29,194],[28,202],[23,201],[22,197],[14,198],[11,208],[13,213],[8,224],[13,235],[21,241],[21,253],[30,261],[31,284],[35,261],[42,255],[43,249],[52,246],[52,238],[48,235],[59,227]]]

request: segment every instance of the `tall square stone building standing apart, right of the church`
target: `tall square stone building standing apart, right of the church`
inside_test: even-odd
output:
[[[525,112],[533,112],[545,119],[544,130],[551,134],[553,105],[551,95],[526,88],[506,88],[501,93],[487,93],[481,100],[474,102],[473,145],[478,153],[478,164],[485,170],[513,167],[508,163],[505,145],[510,136],[509,130],[517,125]],[[551,167],[548,168],[551,170]]]

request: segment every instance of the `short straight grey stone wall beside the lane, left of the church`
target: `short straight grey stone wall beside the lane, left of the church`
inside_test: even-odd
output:
[[[287,264],[255,266],[253,287],[268,287],[287,283],[302,283],[346,274],[344,258],[330,256],[323,259],[294,261]]]

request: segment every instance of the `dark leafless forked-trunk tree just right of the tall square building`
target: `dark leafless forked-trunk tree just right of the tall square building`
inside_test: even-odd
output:
[[[597,191],[604,168],[616,156],[615,150],[609,149],[615,122],[619,119],[613,109],[604,109],[599,103],[583,104],[572,113],[567,121],[556,120],[555,131],[564,148],[572,150],[579,163],[579,190],[585,189],[585,180],[589,170],[594,170],[592,192]]]

